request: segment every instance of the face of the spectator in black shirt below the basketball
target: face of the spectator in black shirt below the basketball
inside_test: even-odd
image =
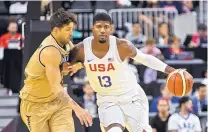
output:
[[[169,111],[169,104],[168,104],[168,100],[166,99],[159,99],[158,103],[157,103],[157,109],[159,113],[166,113]]]

